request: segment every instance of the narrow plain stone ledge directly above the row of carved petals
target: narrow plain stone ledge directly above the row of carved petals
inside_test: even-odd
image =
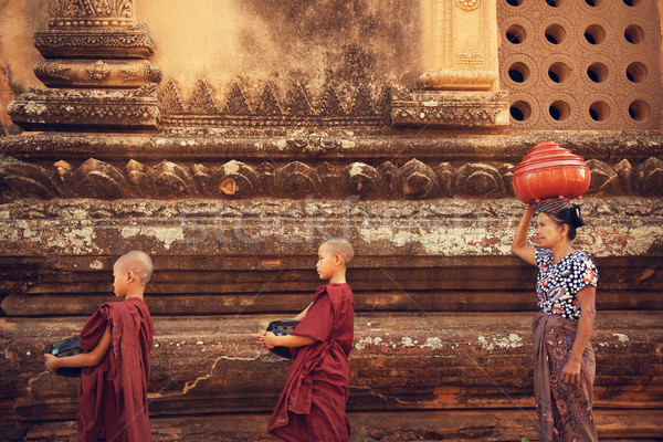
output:
[[[128,161],[130,158],[160,161],[303,160],[319,159],[396,160],[417,157],[422,161],[498,161],[517,164],[540,141],[556,140],[585,159],[642,161],[663,157],[660,131],[529,131],[527,134],[449,135],[444,133],[394,131],[359,136],[351,130],[290,130],[265,136],[232,136],[223,130],[197,133],[181,128],[179,134],[81,134],[24,133],[0,138],[0,152],[32,161],[96,158]],[[320,150],[322,149],[322,150]]]

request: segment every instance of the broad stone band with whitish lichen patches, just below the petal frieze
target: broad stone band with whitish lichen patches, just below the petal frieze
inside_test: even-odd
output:
[[[593,257],[663,253],[663,201],[582,199],[575,246]],[[311,255],[348,236],[361,256],[511,256],[523,212],[514,199],[358,201],[18,200],[0,206],[0,256]]]

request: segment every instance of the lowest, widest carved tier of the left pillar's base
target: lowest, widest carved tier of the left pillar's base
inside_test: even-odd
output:
[[[108,126],[154,128],[160,115],[154,83],[138,90],[36,90],[8,106],[12,120],[22,127]]]

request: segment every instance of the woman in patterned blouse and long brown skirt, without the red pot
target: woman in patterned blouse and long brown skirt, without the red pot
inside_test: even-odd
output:
[[[539,249],[527,245],[536,210]],[[579,208],[566,200],[528,206],[512,245],[516,255],[539,270],[539,313],[532,325],[539,441],[598,440],[592,413],[596,360],[589,336],[599,274],[591,260],[571,246],[581,225]]]

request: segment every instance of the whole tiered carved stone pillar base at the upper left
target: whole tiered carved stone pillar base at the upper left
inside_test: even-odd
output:
[[[28,129],[67,127],[156,128],[161,73],[140,60],[154,53],[147,25],[134,27],[133,0],[50,0],[49,29],[34,34],[46,59],[34,67],[48,86],[9,107]],[[84,88],[84,90],[78,90]]]

